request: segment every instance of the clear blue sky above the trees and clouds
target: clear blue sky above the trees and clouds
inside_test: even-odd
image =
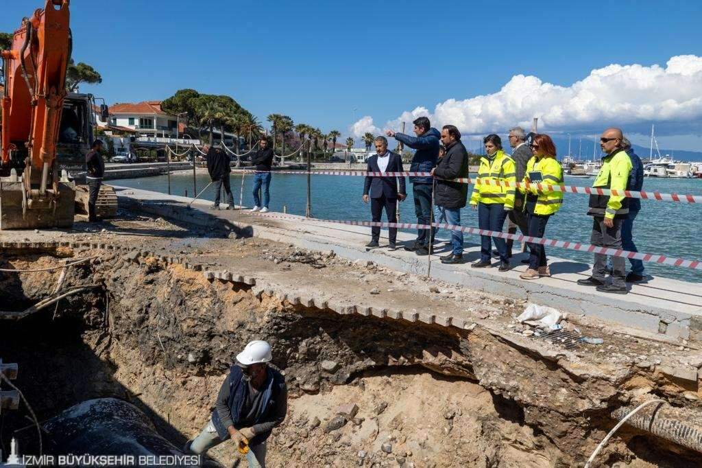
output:
[[[11,31],[43,0],[5,3],[0,30]],[[571,86],[611,63],[702,56],[702,1],[74,0],[71,11],[73,56],[103,77],[81,91],[114,103],[188,87],[343,134],[354,119],[384,128],[518,74]],[[702,150],[697,115],[681,131],[682,117],[662,124],[659,142]]]

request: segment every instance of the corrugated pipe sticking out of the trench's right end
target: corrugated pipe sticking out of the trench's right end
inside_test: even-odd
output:
[[[611,412],[611,417],[622,420],[633,409],[628,406],[617,408]],[[699,411],[663,403],[644,408],[630,417],[626,424],[702,453],[702,413]]]

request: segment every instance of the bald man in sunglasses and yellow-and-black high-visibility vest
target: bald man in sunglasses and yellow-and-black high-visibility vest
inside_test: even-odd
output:
[[[622,149],[624,136],[620,129],[607,129],[600,137],[600,148],[607,155],[602,158],[602,168],[592,183],[593,188],[626,190],[632,169],[629,155]],[[621,249],[621,223],[629,215],[629,200],[623,195],[590,195],[592,237],[590,243],[597,247]],[[625,259],[612,257],[611,282],[605,282],[607,255],[595,254],[590,278],[578,280],[578,285],[595,286],[598,291],[626,294]]]

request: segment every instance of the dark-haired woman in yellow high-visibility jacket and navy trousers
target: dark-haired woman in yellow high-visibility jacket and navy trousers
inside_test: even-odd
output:
[[[481,229],[501,232],[507,213],[515,207],[515,186],[517,174],[515,161],[502,150],[502,140],[491,134],[483,138],[487,155],[480,158],[477,181],[470,197],[470,204],[478,211],[478,226]],[[510,186],[511,183],[511,186]],[[507,243],[503,238],[482,235],[480,259],[473,268],[492,266],[490,253],[492,240],[500,254],[500,271],[510,269]]]

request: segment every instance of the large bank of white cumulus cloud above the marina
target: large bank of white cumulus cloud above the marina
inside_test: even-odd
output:
[[[427,115],[432,125],[454,124],[465,134],[504,133],[517,124],[529,129],[538,117],[539,130],[592,133],[606,126],[646,133],[656,122],[660,134],[702,134],[702,57],[675,56],[659,65],[608,65],[592,70],[571,86],[542,82],[517,74],[496,93],[447,99],[434,112],[418,107],[388,121]],[[363,117],[352,129],[373,128]],[[371,130],[366,130],[371,131]]]

